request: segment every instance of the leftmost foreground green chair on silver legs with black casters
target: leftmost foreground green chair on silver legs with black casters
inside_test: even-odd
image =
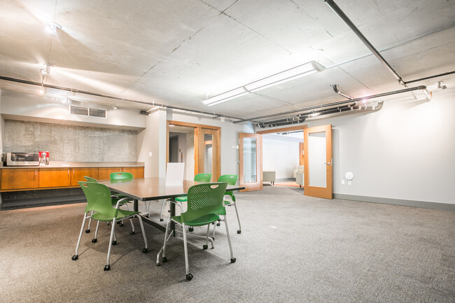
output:
[[[146,244],[146,248],[144,248],[142,250],[142,252],[147,253],[148,252],[147,238],[146,238],[146,233],[144,232],[144,225],[142,223],[142,218],[141,218],[141,216],[138,216],[139,212],[138,211],[125,211],[124,209],[119,209],[122,199],[118,200],[116,207],[114,208],[112,206],[111,192],[109,191],[109,188],[104,184],[83,182],[83,181],[78,181],[78,183],[80,185],[80,188],[82,188],[82,190],[85,194],[85,197],[87,198],[87,205],[85,206],[85,213],[84,213],[84,219],[82,221],[82,227],[80,227],[78,244],[76,244],[76,255],[73,255],[73,257],[71,259],[78,260],[78,258],[79,258],[78,250],[79,250],[79,245],[80,245],[80,239],[82,238],[85,220],[87,220],[87,218],[92,218],[94,220],[98,220],[97,225],[99,225],[100,221],[104,221],[104,222],[111,221],[112,222],[111,238],[109,239],[109,249],[108,249],[108,253],[107,253],[107,265],[104,266],[105,271],[111,269],[111,263],[110,263],[111,248],[113,245],[117,244],[117,236],[116,236],[116,231],[115,231],[117,220],[130,219],[132,221],[132,218],[134,216],[139,218],[139,223],[141,224],[142,236],[144,237],[144,243]],[[124,198],[124,199],[127,199],[127,198]],[[93,211],[94,213],[92,213],[92,215],[90,215],[90,216],[87,216],[87,213],[89,213],[90,211]],[[97,229],[97,232],[98,232],[98,229]],[[95,238],[92,239],[92,243],[97,242],[96,241],[97,232],[95,232]],[[134,229],[130,234],[134,234]]]

